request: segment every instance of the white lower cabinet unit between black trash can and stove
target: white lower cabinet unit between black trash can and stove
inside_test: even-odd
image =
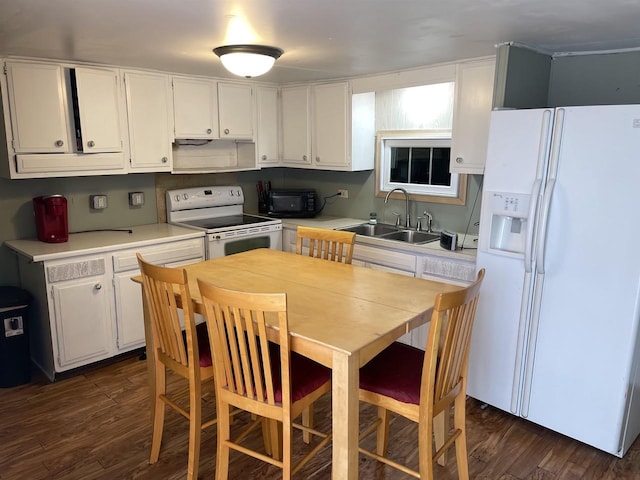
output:
[[[19,256],[21,285],[33,296],[33,362],[56,374],[143,347],[142,292],[136,252],[151,263],[179,266],[204,259],[201,237],[127,250],[34,262]]]

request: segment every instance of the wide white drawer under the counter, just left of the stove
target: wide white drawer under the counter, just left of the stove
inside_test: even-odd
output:
[[[204,258],[204,242],[202,238],[194,238],[114,253],[113,271],[117,273],[138,268],[137,252],[145,261],[155,264],[199,260]]]

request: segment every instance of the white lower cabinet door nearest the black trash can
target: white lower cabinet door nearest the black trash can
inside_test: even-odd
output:
[[[111,304],[106,276],[54,284],[58,363],[63,369],[112,354]]]

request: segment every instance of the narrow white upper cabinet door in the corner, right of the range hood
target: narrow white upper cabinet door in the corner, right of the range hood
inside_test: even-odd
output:
[[[278,165],[278,89],[257,87],[258,164],[261,167]]]

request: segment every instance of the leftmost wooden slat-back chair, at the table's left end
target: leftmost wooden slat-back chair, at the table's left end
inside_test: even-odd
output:
[[[189,420],[189,460],[187,479],[198,478],[200,434],[216,420],[202,422],[202,383],[213,381],[213,366],[209,339],[204,323],[196,327],[187,272],[179,268],[160,267],[145,262],[140,254],[143,293],[149,312],[155,358],[156,398],[153,414],[153,436],[149,463],[160,456],[165,405],[169,405]],[[180,294],[178,304],[175,294]],[[184,312],[184,331],[179,310]],[[167,396],[166,370],[169,369],[189,382],[189,410]]]

